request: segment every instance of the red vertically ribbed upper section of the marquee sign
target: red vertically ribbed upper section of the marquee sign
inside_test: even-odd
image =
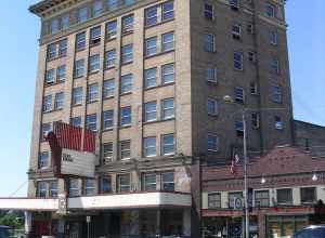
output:
[[[82,148],[82,130],[83,130],[83,148]],[[67,124],[61,121],[53,123],[53,132],[56,135],[57,144],[61,148],[72,150],[83,150],[89,153],[95,151],[95,132]]]

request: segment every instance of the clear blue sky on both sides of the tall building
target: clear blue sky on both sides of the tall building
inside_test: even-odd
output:
[[[27,180],[37,70],[39,22],[27,9],[37,0],[3,1],[0,10],[0,197]],[[288,45],[295,118],[325,125],[324,0],[289,0]],[[26,194],[26,185],[17,193]]]

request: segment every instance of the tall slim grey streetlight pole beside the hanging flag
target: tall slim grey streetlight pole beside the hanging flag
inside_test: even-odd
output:
[[[249,211],[248,211],[248,188],[247,188],[247,141],[246,141],[246,116],[245,109],[243,110],[243,136],[244,136],[244,206],[245,206],[245,233],[246,238],[249,238]]]

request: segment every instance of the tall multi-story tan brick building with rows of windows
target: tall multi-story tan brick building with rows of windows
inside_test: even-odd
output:
[[[248,111],[249,150],[291,143],[283,0],[43,0],[30,11],[41,37],[28,196],[64,193],[42,140],[63,121],[99,135],[96,175],[70,178],[69,196],[116,201],[89,213],[69,198],[75,215],[31,213],[35,232],[84,234],[91,214],[98,236],[198,237],[199,160],[240,151],[237,113]],[[141,200],[153,191],[158,202]]]

